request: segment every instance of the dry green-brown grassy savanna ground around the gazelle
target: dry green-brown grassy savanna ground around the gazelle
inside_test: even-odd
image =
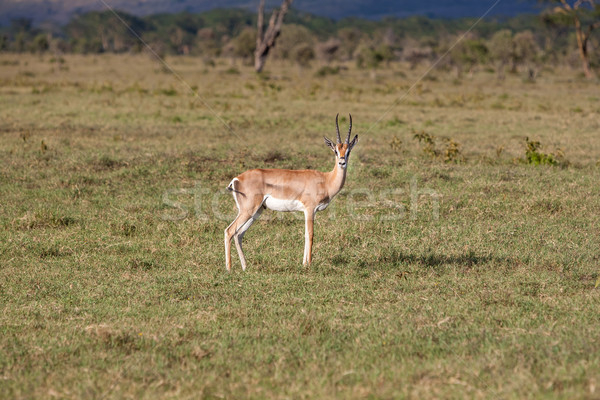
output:
[[[1,398],[600,396],[597,82],[167,62],[202,100],[143,55],[0,56]],[[226,185],[330,170],[338,112],[313,264],[265,212],[228,274]]]

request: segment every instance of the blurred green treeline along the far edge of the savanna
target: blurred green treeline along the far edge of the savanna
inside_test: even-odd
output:
[[[34,27],[27,19],[13,20],[0,28],[0,50],[82,54],[147,51],[134,31],[161,56],[196,55],[209,64],[216,57],[252,62],[256,45],[256,14],[252,12],[221,9],[147,17],[118,12],[118,17],[110,11],[89,12],[65,26],[45,28]],[[580,66],[573,30],[543,14],[487,19],[469,30],[474,22],[472,18],[416,16],[335,21],[292,10],[270,57],[301,66],[351,60],[362,68],[377,68],[393,61],[416,66],[437,60],[449,50],[449,57],[440,66],[459,74],[478,66],[496,71],[525,67],[530,73],[548,64]],[[451,48],[463,35],[464,40]],[[600,65],[598,36],[592,38],[588,51],[592,67]]]

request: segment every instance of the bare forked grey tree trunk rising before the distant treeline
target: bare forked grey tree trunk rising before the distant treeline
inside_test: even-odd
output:
[[[257,16],[256,50],[254,51],[254,69],[256,72],[262,71],[265,62],[267,61],[269,51],[275,47],[275,40],[277,40],[277,37],[281,33],[283,17],[290,8],[292,1],[293,0],[283,0],[281,8],[279,10],[273,10],[273,14],[269,20],[269,26],[266,31],[263,31],[265,0],[260,0]]]

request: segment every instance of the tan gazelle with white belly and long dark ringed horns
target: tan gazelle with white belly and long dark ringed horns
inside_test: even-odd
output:
[[[339,115],[339,114],[338,114]],[[227,187],[239,210],[237,217],[225,229],[225,264],[231,271],[231,239],[246,270],[246,257],[242,238],[263,209],[275,211],[303,211],[305,218],[303,265],[311,262],[313,225],[315,213],[327,208],[346,181],[346,168],[350,152],[358,142],[358,135],[350,141],[352,115],[346,142],[342,143],[338,115],[335,117],[337,143],[325,139],[325,144],[335,153],[335,165],[330,172],[289,169],[252,169],[233,178]]]

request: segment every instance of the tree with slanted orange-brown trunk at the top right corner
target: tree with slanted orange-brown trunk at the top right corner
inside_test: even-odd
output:
[[[592,32],[600,28],[600,4],[595,0],[546,0],[557,4],[552,10],[546,12],[544,19],[548,24],[568,25],[575,27],[579,58],[586,78],[594,74],[590,68],[588,42]]]

